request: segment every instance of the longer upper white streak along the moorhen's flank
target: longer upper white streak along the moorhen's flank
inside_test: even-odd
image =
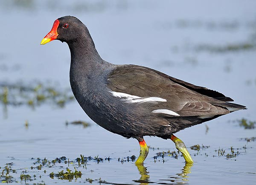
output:
[[[129,95],[126,93],[118,93],[115,91],[110,91],[113,96],[117,98],[122,98],[128,103],[144,103],[144,102],[150,102],[150,103],[157,103],[157,101],[160,102],[166,102],[166,99],[159,98],[159,97],[148,97],[148,98],[142,98],[140,96],[135,96],[135,95]]]

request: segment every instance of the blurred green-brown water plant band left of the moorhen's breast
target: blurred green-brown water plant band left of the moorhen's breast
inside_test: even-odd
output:
[[[64,107],[66,103],[73,101],[74,96],[70,89],[60,90],[49,84],[35,82],[23,83],[0,83],[0,104],[20,106],[28,105],[35,108],[43,103]]]

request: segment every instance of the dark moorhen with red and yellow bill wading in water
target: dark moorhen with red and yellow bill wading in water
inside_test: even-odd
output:
[[[76,17],[54,21],[41,44],[52,40],[70,48],[70,84],[85,113],[101,127],[140,144],[136,165],[143,164],[148,146],[143,136],[171,139],[186,163],[193,163],[185,144],[173,133],[186,127],[246,109],[233,99],[137,65],[115,65],[97,52],[87,27]]]

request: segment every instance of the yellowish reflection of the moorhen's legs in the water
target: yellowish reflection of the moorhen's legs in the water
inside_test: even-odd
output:
[[[154,182],[149,181],[149,172],[147,171],[147,168],[144,167],[144,165],[136,165],[138,168],[138,171],[141,175],[139,180],[134,180],[134,182],[139,182],[140,185],[148,185]],[[181,173],[176,173],[177,176],[169,176],[168,179],[159,179],[159,181],[165,181],[164,184],[188,184],[189,176],[188,174],[191,173],[191,167],[193,164],[186,163],[186,165],[181,170]],[[166,181],[170,181],[169,183]],[[157,182],[159,183],[159,182]]]

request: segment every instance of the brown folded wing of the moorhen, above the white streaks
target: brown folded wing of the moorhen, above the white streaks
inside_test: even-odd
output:
[[[225,102],[219,99],[232,100],[216,91],[136,65],[117,66],[108,76],[108,87],[114,92],[166,99],[167,102],[149,106],[149,111],[167,109],[180,116],[227,114],[229,110],[221,106]],[[206,92],[210,92],[210,96]]]

